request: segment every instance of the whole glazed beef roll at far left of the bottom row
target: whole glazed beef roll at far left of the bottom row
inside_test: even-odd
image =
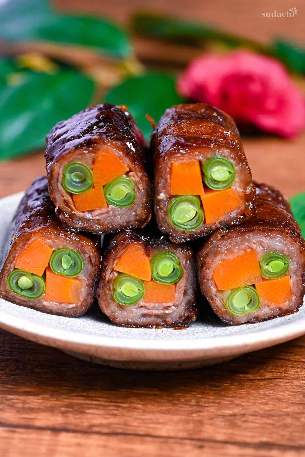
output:
[[[37,178],[11,223],[0,297],[44,313],[77,317],[94,300],[99,240],[65,230],[54,209],[47,178]]]

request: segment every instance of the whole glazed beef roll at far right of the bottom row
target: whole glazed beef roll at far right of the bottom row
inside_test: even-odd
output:
[[[303,303],[305,242],[289,203],[273,187],[257,185],[257,213],[215,232],[198,250],[201,292],[228,324],[291,314]]]

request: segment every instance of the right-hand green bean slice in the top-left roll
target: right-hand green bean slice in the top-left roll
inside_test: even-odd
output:
[[[119,176],[104,186],[106,202],[120,208],[130,206],[134,203],[136,193],[134,181],[128,176]]]

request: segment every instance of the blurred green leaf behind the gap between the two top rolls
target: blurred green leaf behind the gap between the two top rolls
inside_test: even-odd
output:
[[[148,140],[152,128],[145,114],[150,114],[158,122],[166,108],[182,103],[183,99],[177,93],[175,80],[171,76],[147,73],[123,81],[110,90],[105,101],[114,105],[126,105]]]

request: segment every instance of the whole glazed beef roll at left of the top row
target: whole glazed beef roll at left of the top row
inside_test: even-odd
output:
[[[145,142],[126,107],[87,108],[56,124],[47,143],[48,190],[61,221],[103,234],[150,220]]]

